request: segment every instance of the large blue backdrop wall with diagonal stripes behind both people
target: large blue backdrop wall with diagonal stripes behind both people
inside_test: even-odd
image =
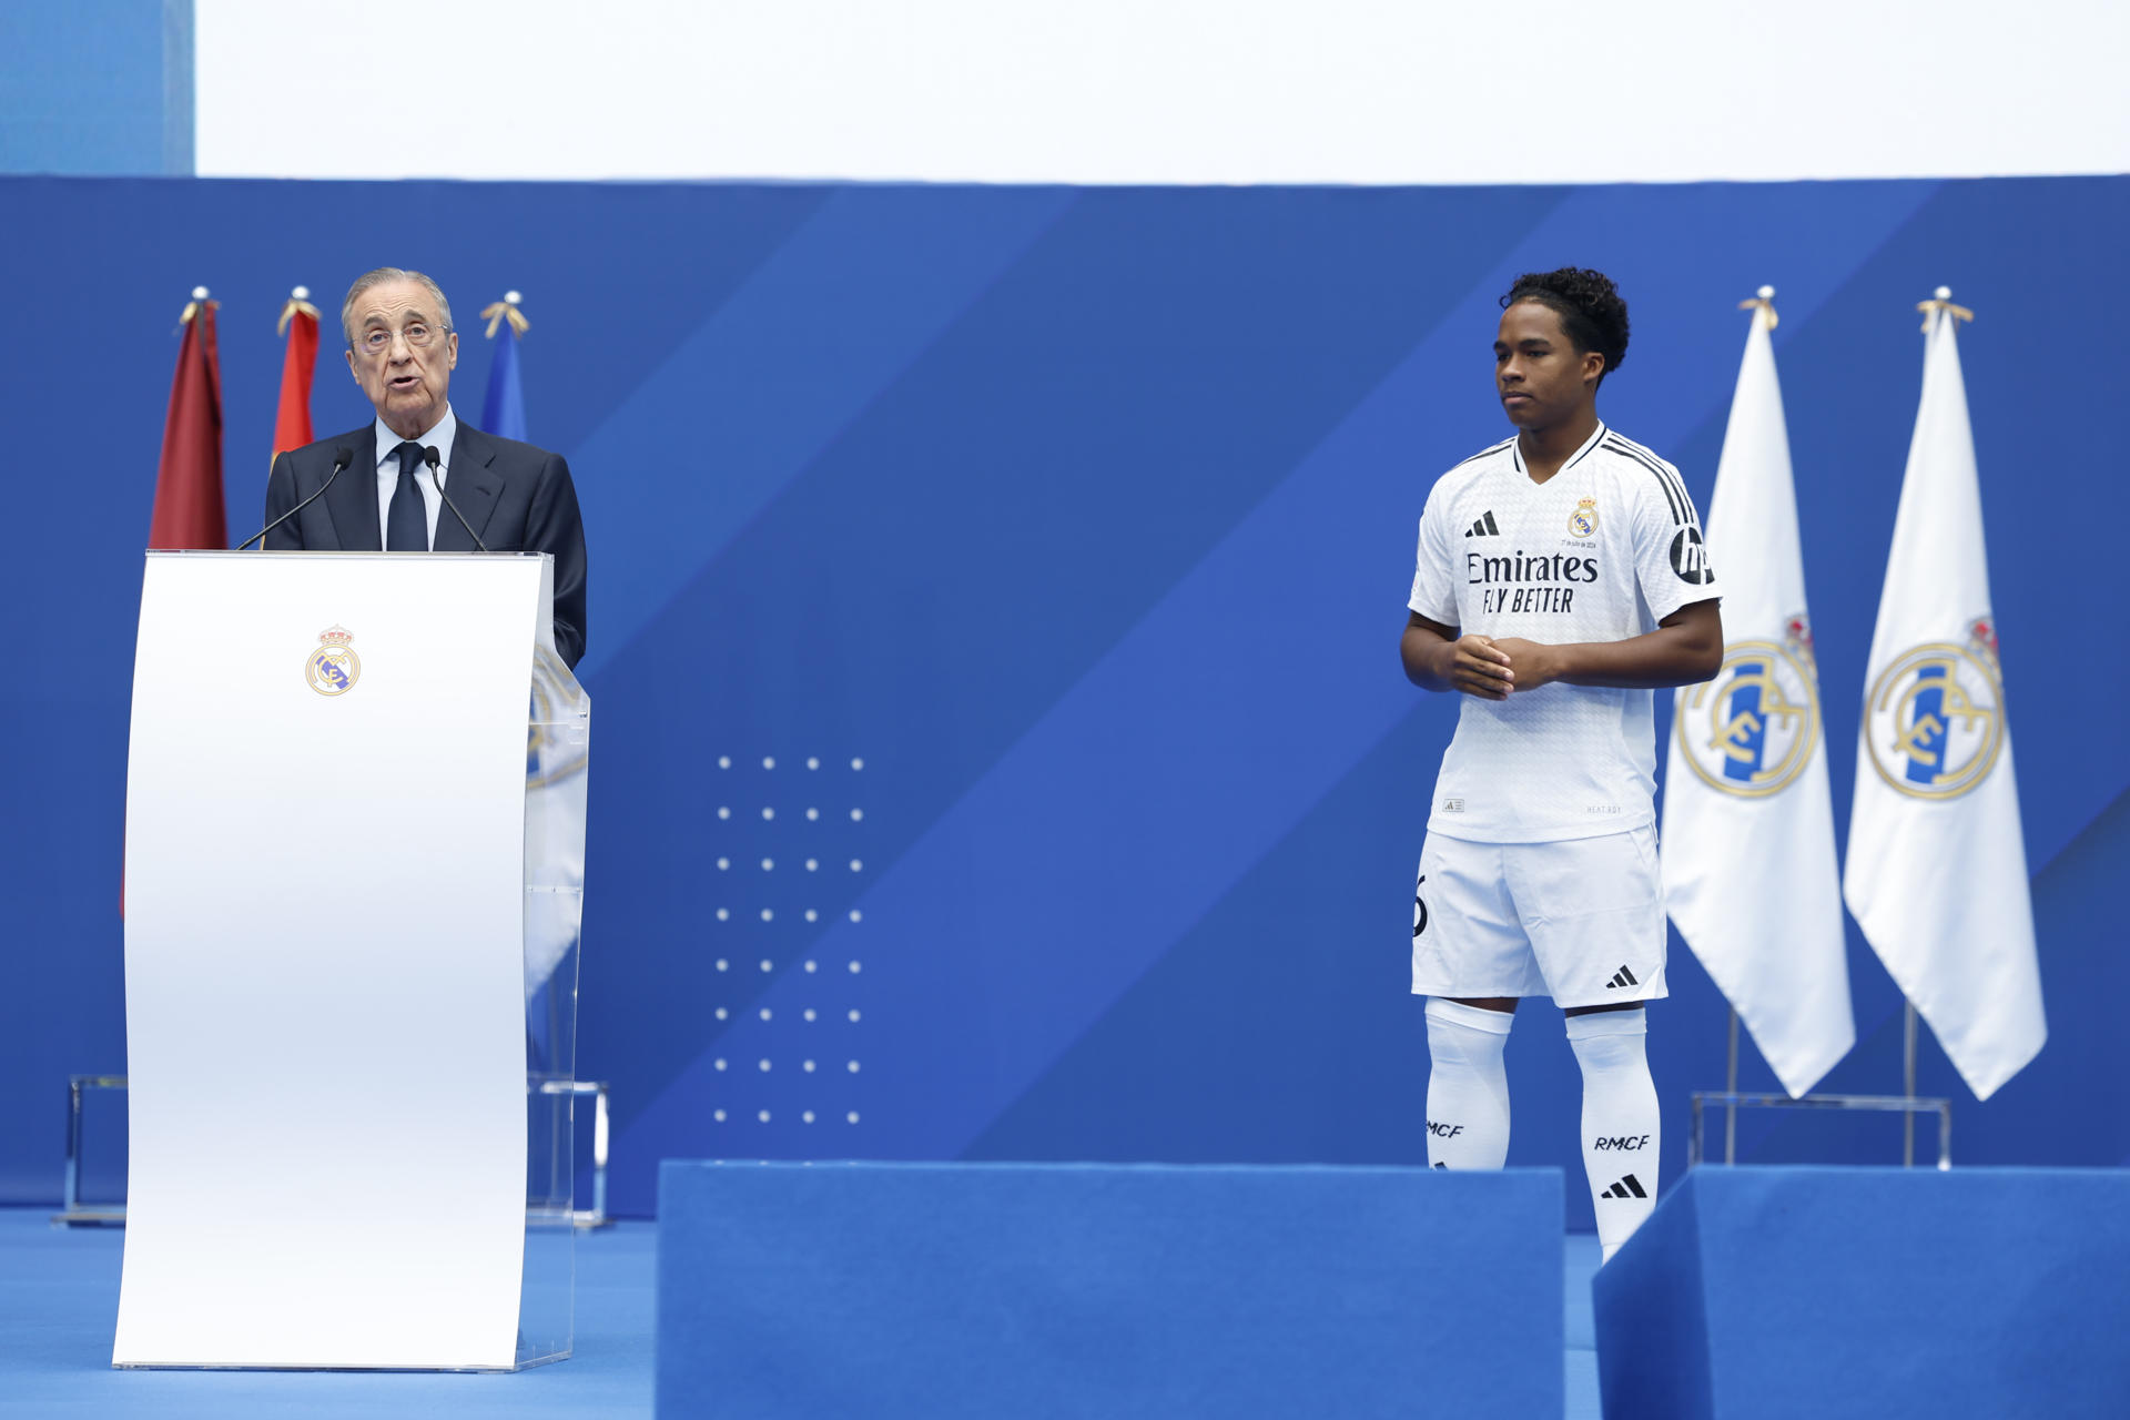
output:
[[[2130,692],[2107,451],[2130,353],[2087,275],[2130,243],[2126,179],[0,179],[0,200],[21,547],[0,1201],[58,1194],[62,1077],[124,1069],[128,681],[177,311],[194,283],[226,302],[243,536],[281,298],[337,307],[379,262],[454,296],[462,417],[490,360],[473,313],[526,294],[530,436],[577,470],[599,749],[579,1073],[613,1084],[618,1211],[654,1207],[662,1156],[1423,1160],[1408,901],[1455,705],[1397,668],[1412,530],[1433,477],[1506,432],[1495,296],[1568,262],[1634,309],[1606,417],[1704,507],[1736,302],[1781,290],[1842,818],[1913,307],[1949,283],[1977,309],[1962,358],[2051,1039],[1987,1105],[1934,1047],[1921,1084],[1962,1101],[1962,1162],[2130,1154],[2130,741],[2107,728]],[[313,404],[322,434],[368,417],[339,364]],[[320,773],[347,773],[330,745]],[[1825,1088],[1894,1090],[1900,998],[1862,943],[1851,971],[1859,1043]],[[1676,943],[1672,984],[1651,1037],[1668,1179],[1687,1090],[1723,1071],[1723,1003]],[[1555,1011],[1521,1016],[1510,1073],[1510,1162],[1580,1177]],[[1747,1084],[1772,1086],[1757,1058]],[[1898,1158],[1887,1120],[1742,1139]]]

